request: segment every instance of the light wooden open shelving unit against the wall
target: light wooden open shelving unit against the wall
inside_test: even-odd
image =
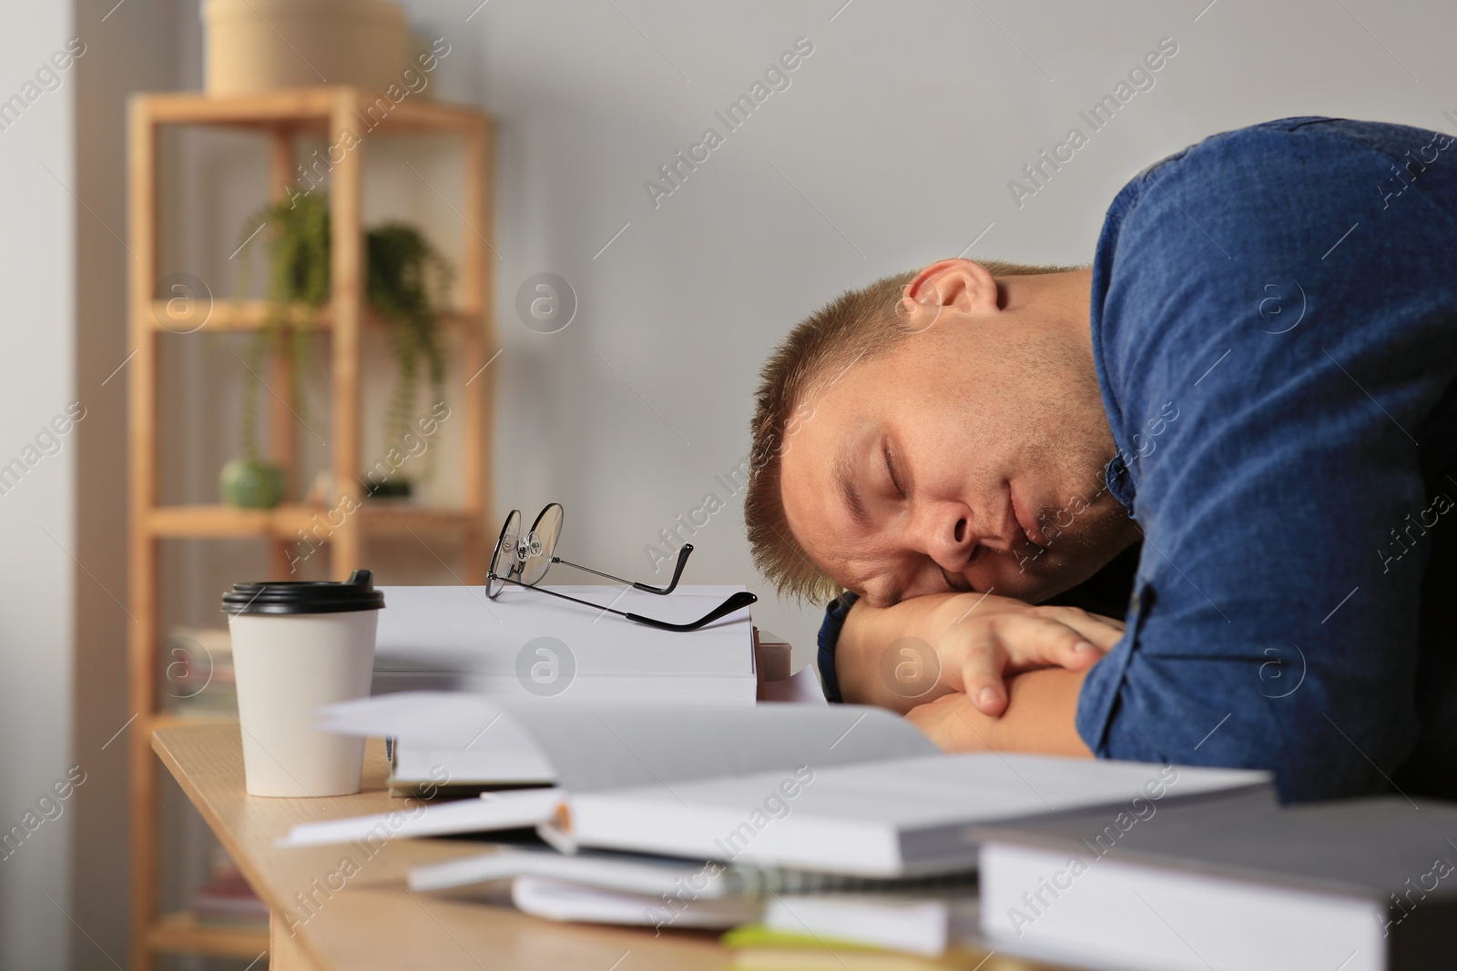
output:
[[[463,578],[485,582],[487,523],[492,508],[490,495],[491,424],[488,403],[494,386],[487,364],[487,348],[495,344],[491,320],[491,268],[488,243],[491,231],[491,124],[479,111],[423,98],[407,98],[392,105],[377,128],[344,151],[329,173],[331,218],[331,300],[315,326],[329,342],[331,470],[337,495],[329,507],[286,504],[274,510],[236,510],[226,505],[157,505],[157,342],[173,328],[165,326],[166,309],[154,293],[157,274],[157,132],[162,125],[213,125],[256,132],[270,143],[270,185],[275,192],[296,178],[299,135],[322,135],[338,144],[345,130],[361,134],[361,114],[374,105],[374,96],[356,87],[328,86],[278,90],[258,95],[208,96],[197,93],[138,95],[130,111],[130,249],[134,255],[130,278],[128,317],[136,357],[128,367],[130,381],[130,609],[136,617],[130,641],[130,697],[138,712],[130,744],[131,804],[131,959],[133,971],[150,971],[159,954],[201,954],[255,958],[268,948],[268,933],[232,927],[210,927],[191,913],[159,911],[157,863],[157,760],[152,751],[152,732],[182,724],[175,715],[159,710],[157,648],[162,626],[157,617],[159,578],[157,546],[163,539],[256,537],[270,544],[270,572],[274,579],[288,576],[288,546],[297,530],[307,530],[313,517],[332,508],[363,472],[360,447],[360,336],[370,326],[364,304],[364,227],[361,220],[363,162],[369,143],[380,135],[409,132],[453,134],[465,148],[463,205],[457,211],[462,227],[462,306],[446,314],[446,326],[459,333],[452,380],[466,381],[460,392],[463,431],[462,508],[436,510],[370,505],[344,518],[328,539],[329,574],[344,579],[351,569],[364,566],[361,547],[366,536],[424,530],[459,534],[465,543]],[[453,207],[452,207],[453,208]],[[207,323],[208,330],[248,330],[264,320],[261,301],[217,301]],[[170,336],[168,339],[189,339]],[[195,339],[195,338],[191,338]],[[287,402],[287,361],[272,365],[270,384],[278,393],[270,413],[272,459],[294,475],[294,422]],[[240,578],[240,579],[255,579]],[[188,719],[186,724],[195,724]]]

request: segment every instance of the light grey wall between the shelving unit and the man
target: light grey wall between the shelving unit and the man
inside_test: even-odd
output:
[[[564,547],[641,574],[675,514],[728,498],[714,476],[745,457],[759,364],[841,290],[963,252],[1087,262],[1123,182],[1217,131],[1454,124],[1450,4],[1206,4],[408,0],[417,32],[453,45],[444,95],[500,121],[501,504],[561,499]],[[715,109],[798,36],[814,54],[791,86],[654,210],[644,181],[705,127],[726,134]],[[1078,112],[1163,36],[1179,52],[1154,87],[1016,205],[1008,181],[1069,127],[1090,132]],[[561,333],[514,313],[541,271],[577,291]],[[692,581],[755,584],[742,496],[730,507],[695,537]],[[819,611],[753,588],[761,625],[807,659]]]

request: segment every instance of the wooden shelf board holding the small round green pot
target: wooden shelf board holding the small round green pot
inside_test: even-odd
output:
[[[165,505],[146,512],[146,530],[156,537],[205,539],[229,536],[265,536],[296,539],[299,530],[310,533],[315,517],[326,526],[328,508],[286,504],[272,510],[239,510],[232,505]],[[366,504],[360,507],[360,526],[366,533],[407,533],[414,528],[474,530],[481,514],[474,510],[433,510],[411,505]]]

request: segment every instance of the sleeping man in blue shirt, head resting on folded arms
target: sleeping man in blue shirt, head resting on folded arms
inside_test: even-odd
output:
[[[1090,268],[847,293],[765,365],[750,469],[830,700],[953,751],[1457,796],[1447,135],[1224,132],[1118,194]]]

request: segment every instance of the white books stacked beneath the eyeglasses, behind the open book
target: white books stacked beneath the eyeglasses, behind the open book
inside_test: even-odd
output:
[[[551,590],[678,622],[702,616],[742,587],[679,587],[672,597],[602,585]],[[685,633],[513,587],[494,600],[469,587],[385,587],[383,592],[374,694],[396,691],[414,680],[420,689],[453,687],[548,703],[669,697],[717,708],[752,706],[761,690],[747,610]],[[549,782],[552,767],[530,740],[497,738],[510,731],[508,725],[494,731],[487,741],[497,744],[466,747],[463,741],[469,740],[462,740],[443,748],[418,735],[396,737],[390,745],[390,793],[443,789],[474,795]],[[431,773],[441,761],[450,767],[443,785]]]

